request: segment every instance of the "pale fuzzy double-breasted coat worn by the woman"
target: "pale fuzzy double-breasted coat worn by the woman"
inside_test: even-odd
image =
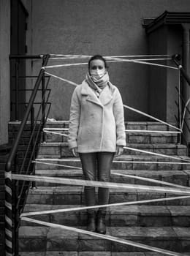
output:
[[[69,148],[80,153],[115,152],[126,145],[123,102],[109,82],[99,98],[86,81],[75,88],[69,119]]]

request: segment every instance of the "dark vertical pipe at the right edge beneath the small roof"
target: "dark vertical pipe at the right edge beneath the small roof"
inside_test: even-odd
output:
[[[188,23],[182,23],[182,28],[183,28],[183,68],[189,75],[189,24]],[[182,94],[185,102],[188,101],[190,97],[190,86],[186,82],[185,79],[183,79],[183,89],[182,89]],[[186,112],[186,124],[188,124],[190,128],[190,115],[188,111]],[[183,127],[183,135],[185,137],[186,143],[189,146],[190,143],[190,132],[186,125]],[[185,143],[185,141],[183,141]]]

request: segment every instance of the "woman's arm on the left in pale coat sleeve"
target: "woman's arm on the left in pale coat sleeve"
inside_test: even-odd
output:
[[[70,118],[69,118],[69,148],[77,148],[77,133],[80,124],[80,100],[78,99],[77,90],[72,94]],[[72,150],[73,153],[73,150]],[[74,154],[75,155],[75,154]]]

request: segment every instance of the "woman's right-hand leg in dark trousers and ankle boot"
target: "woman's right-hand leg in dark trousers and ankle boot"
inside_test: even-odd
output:
[[[97,176],[98,181],[110,181],[110,169],[113,162],[114,153],[99,152],[97,157]],[[109,203],[109,189],[99,187],[98,198],[99,205]],[[99,208],[96,231],[98,233],[106,233],[105,226],[106,208]]]

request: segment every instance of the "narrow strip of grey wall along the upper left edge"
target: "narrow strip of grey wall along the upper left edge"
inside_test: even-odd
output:
[[[10,3],[0,1],[0,145],[8,142]]]

